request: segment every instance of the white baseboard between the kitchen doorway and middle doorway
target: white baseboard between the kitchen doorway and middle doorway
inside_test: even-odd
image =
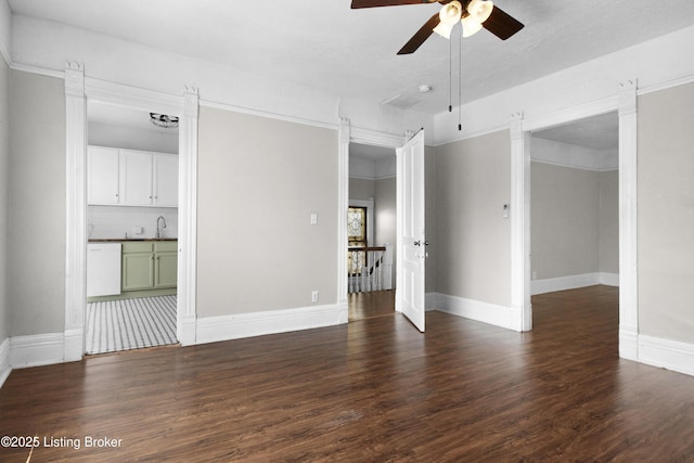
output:
[[[323,305],[201,318],[196,344],[333,326],[344,323],[340,312],[337,305]]]

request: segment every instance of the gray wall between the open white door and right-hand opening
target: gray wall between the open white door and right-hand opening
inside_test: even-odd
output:
[[[511,305],[510,154],[507,130],[436,147],[436,292]]]

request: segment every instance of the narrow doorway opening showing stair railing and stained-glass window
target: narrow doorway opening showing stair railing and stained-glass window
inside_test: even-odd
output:
[[[347,220],[350,322],[395,313],[396,180],[395,149],[349,143],[348,203],[354,211]]]

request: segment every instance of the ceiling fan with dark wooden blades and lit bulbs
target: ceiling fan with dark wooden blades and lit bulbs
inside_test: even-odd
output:
[[[424,23],[398,54],[414,53],[433,33],[450,38],[451,29],[460,21],[463,37],[470,37],[483,27],[501,40],[523,29],[523,24],[489,0],[352,0],[351,8],[396,7],[401,4],[441,3],[441,11]]]

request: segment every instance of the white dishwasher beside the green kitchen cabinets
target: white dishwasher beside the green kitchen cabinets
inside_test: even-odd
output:
[[[120,243],[87,244],[87,297],[120,294]]]

